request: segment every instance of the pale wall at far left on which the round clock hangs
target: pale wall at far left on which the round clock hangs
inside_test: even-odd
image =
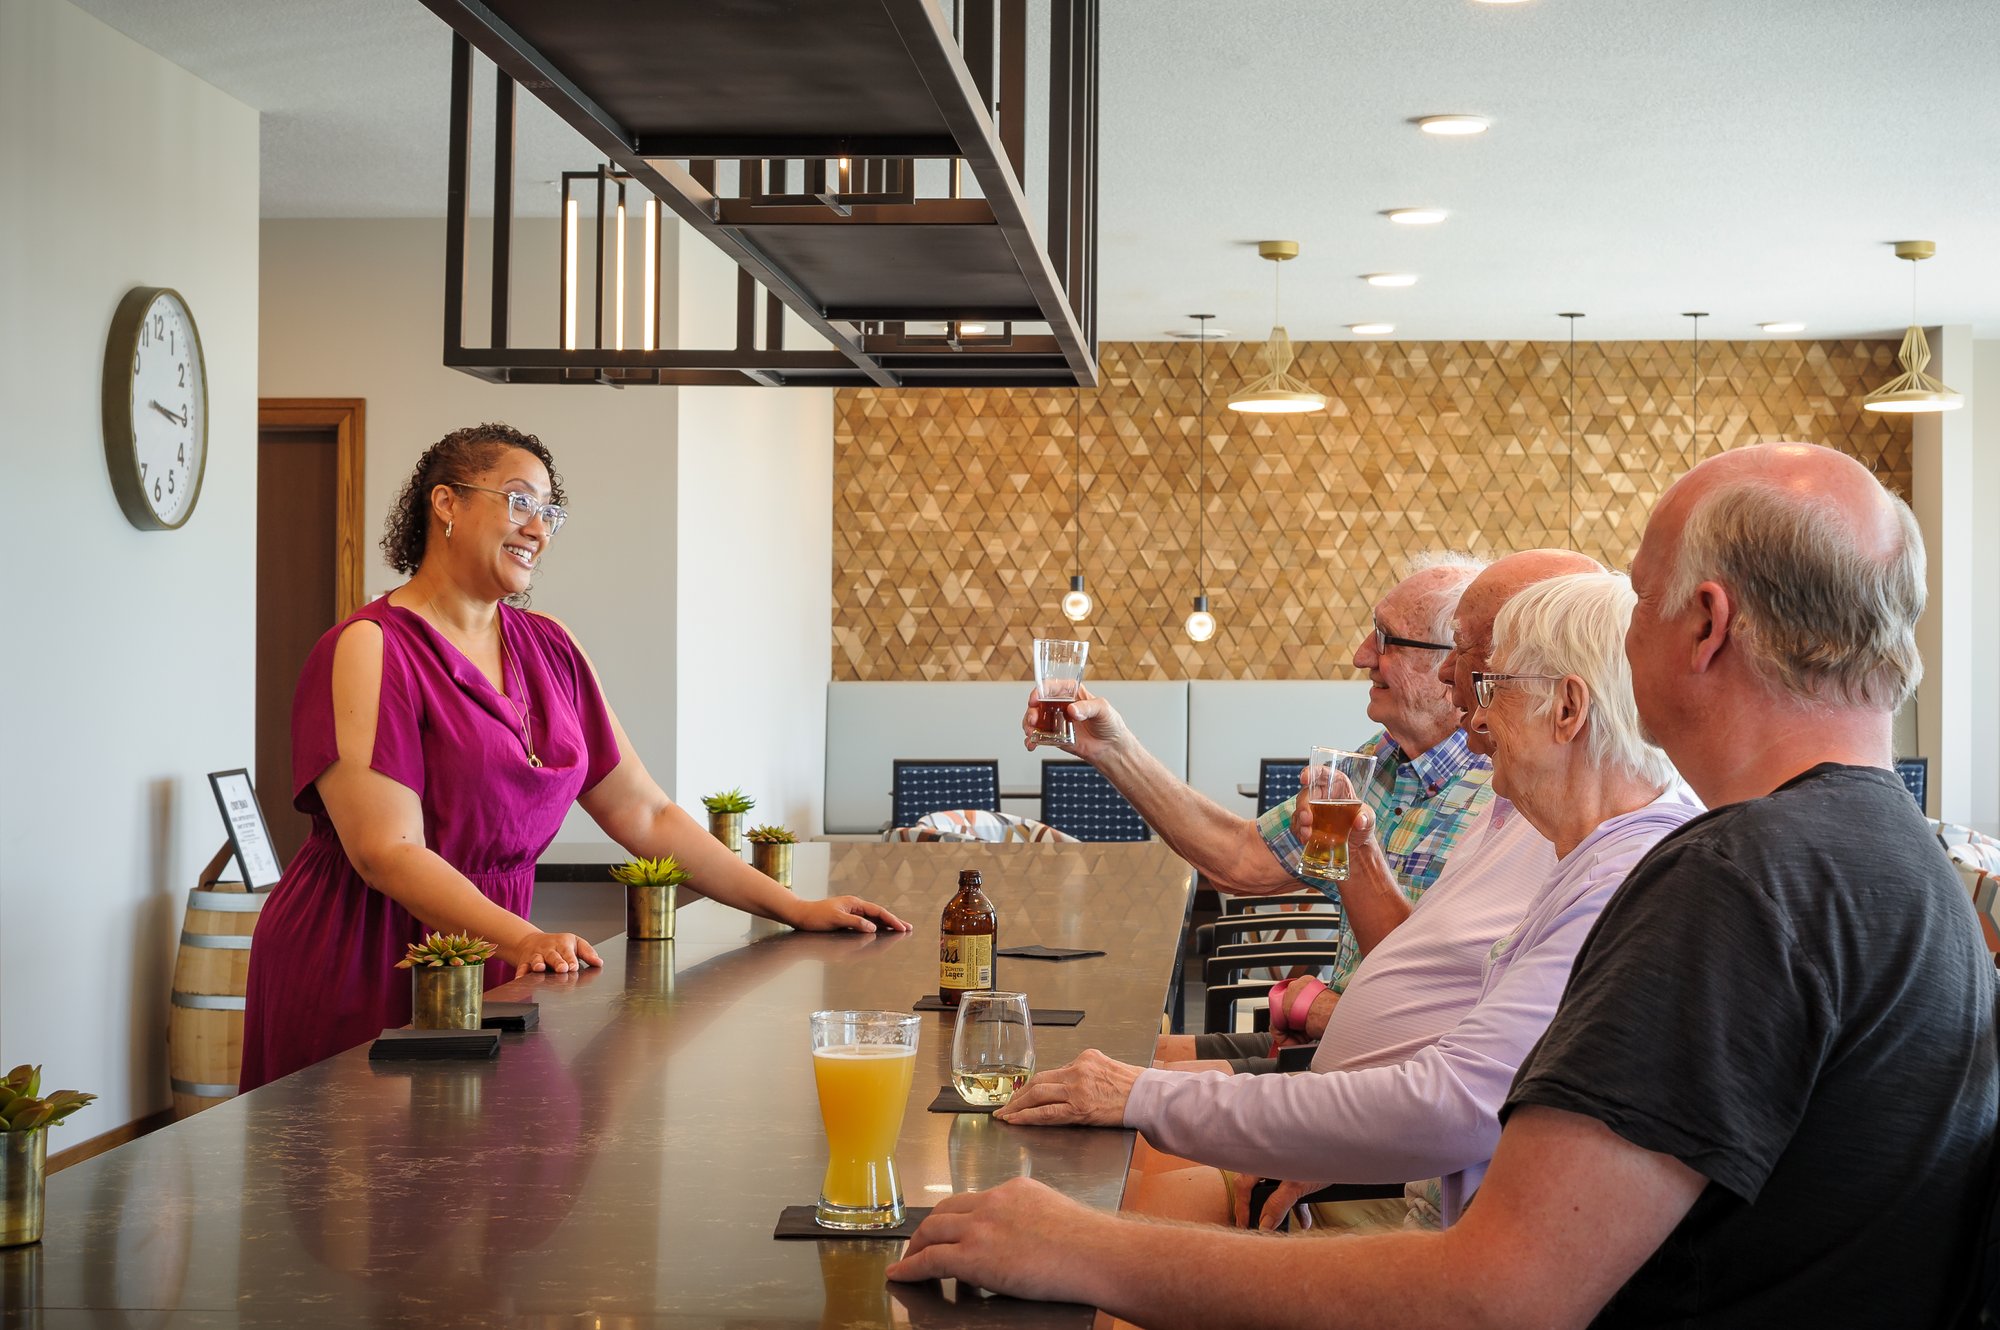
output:
[[[252,756],[258,118],[62,0],[0,0],[0,1066],[100,1100],[76,1144],[168,1104],[186,888],[222,842],[206,772]],[[100,428],[132,286],[186,296],[208,470],[134,530]]]

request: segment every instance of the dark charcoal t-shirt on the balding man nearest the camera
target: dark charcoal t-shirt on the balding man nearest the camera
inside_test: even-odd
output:
[[[1938,1324],[1982,1222],[1994,964],[1896,776],[1816,766],[1662,840],[1518,1104],[1708,1178],[1598,1326]]]

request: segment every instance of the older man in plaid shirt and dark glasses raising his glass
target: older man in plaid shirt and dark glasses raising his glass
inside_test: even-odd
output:
[[[1450,650],[1458,596],[1480,574],[1482,562],[1464,554],[1418,558],[1374,608],[1370,630],[1354,646],[1352,664],[1368,676],[1368,718],[1382,726],[1358,752],[1376,756],[1374,784],[1364,802],[1374,814],[1376,840],[1392,874],[1382,880],[1402,914],[1436,882],[1452,846],[1492,798],[1492,768],[1466,748],[1452,690],[1438,678],[1438,658]],[[1034,706],[1022,720],[1034,748]],[[1292,830],[1296,796],[1260,820],[1224,812],[1166,764],[1146,752],[1124,718],[1104,698],[1082,694],[1070,704],[1076,742],[1070,752],[1096,766],[1132,800],[1140,816],[1176,854],[1224,892],[1268,896],[1320,882],[1300,876],[1302,844]],[[1300,724],[1308,724],[1302,720]],[[1344,900],[1340,954],[1328,988],[1346,988],[1374,936],[1356,938],[1352,916],[1384,916],[1370,902]],[[1398,914],[1400,918],[1400,914]],[[1160,1056],[1232,1058],[1236,1070],[1260,1070],[1270,1060],[1270,1036],[1242,1046],[1222,1038],[1162,1038]]]

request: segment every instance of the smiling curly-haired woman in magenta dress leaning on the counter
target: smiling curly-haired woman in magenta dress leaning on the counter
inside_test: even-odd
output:
[[[562,528],[562,500],[532,434],[444,436],[382,538],[410,580],[306,660],[292,802],[312,834],[258,918],[244,1090],[408,1024],[394,964],[426,930],[492,938],[488,986],[598,964],[576,934],[528,922],[534,862],[576,802],[628,852],[678,858],[702,896],[794,928],[908,928],[856,896],[798,900],[730,854],[646,774],[568,630],[506,604]]]

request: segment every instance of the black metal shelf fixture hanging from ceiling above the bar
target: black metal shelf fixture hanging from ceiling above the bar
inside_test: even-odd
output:
[[[814,0],[782,20],[712,0],[424,4],[458,34],[444,364],[532,384],[1096,384],[1098,0],[1046,6],[1046,80],[1022,0],[960,0],[956,32],[934,0]],[[496,66],[484,346],[466,344],[474,50]],[[516,84],[604,158],[564,172],[554,346],[518,346],[508,318]],[[1048,112],[1044,228],[1030,100]],[[736,262],[734,346],[664,346],[662,208]],[[786,310],[830,350],[788,350]]]

